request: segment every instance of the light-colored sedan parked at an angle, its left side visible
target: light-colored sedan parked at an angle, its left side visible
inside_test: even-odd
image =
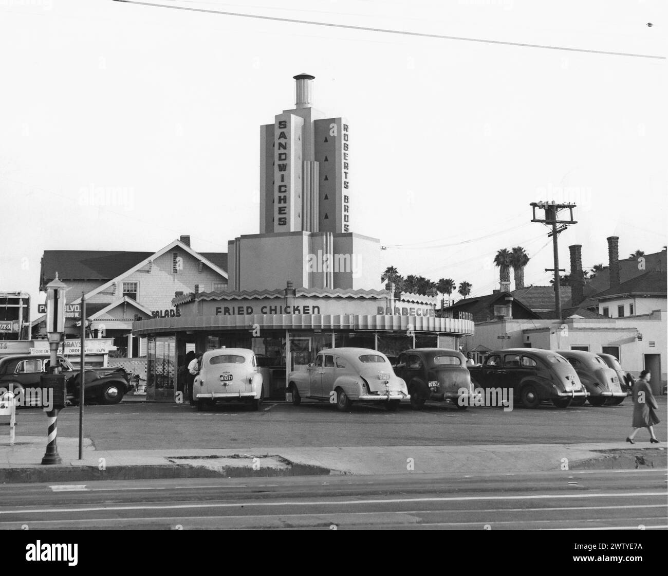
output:
[[[385,354],[367,348],[329,348],[318,353],[307,370],[288,375],[295,406],[302,398],[336,404],[348,411],[353,402],[381,402],[396,410],[409,398],[406,383],[394,374]]]

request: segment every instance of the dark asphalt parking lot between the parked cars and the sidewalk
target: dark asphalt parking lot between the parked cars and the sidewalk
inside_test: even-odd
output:
[[[666,398],[657,397],[662,421],[657,434],[664,443]],[[632,412],[629,399],[621,406],[558,409],[544,404],[536,410],[516,406],[511,412],[484,407],[457,410],[436,402],[428,402],[422,412],[411,410],[407,403],[397,412],[356,405],[349,413],[318,402],[301,406],[267,402],[260,412],[235,404],[197,412],[188,404],[124,402],[86,406],[83,435],[97,450],[623,442]],[[59,436],[78,436],[78,426],[78,408],[60,412]],[[46,432],[47,417],[41,410],[17,412],[17,434],[46,436]],[[649,446],[644,430],[636,440],[638,446]]]

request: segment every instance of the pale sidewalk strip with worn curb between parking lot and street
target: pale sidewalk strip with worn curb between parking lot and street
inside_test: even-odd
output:
[[[665,468],[665,446],[637,442],[482,446],[325,446],[96,450],[86,438],[58,438],[63,464],[42,466],[45,438],[0,438],[0,482],[71,482],[148,478],[544,472],[588,468]]]

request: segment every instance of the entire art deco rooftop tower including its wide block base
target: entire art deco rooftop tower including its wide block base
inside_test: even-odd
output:
[[[349,127],[311,107],[313,76],[294,76],[297,102],[260,130],[260,231],[227,243],[230,291],[377,289],[380,241],[351,231]]]

